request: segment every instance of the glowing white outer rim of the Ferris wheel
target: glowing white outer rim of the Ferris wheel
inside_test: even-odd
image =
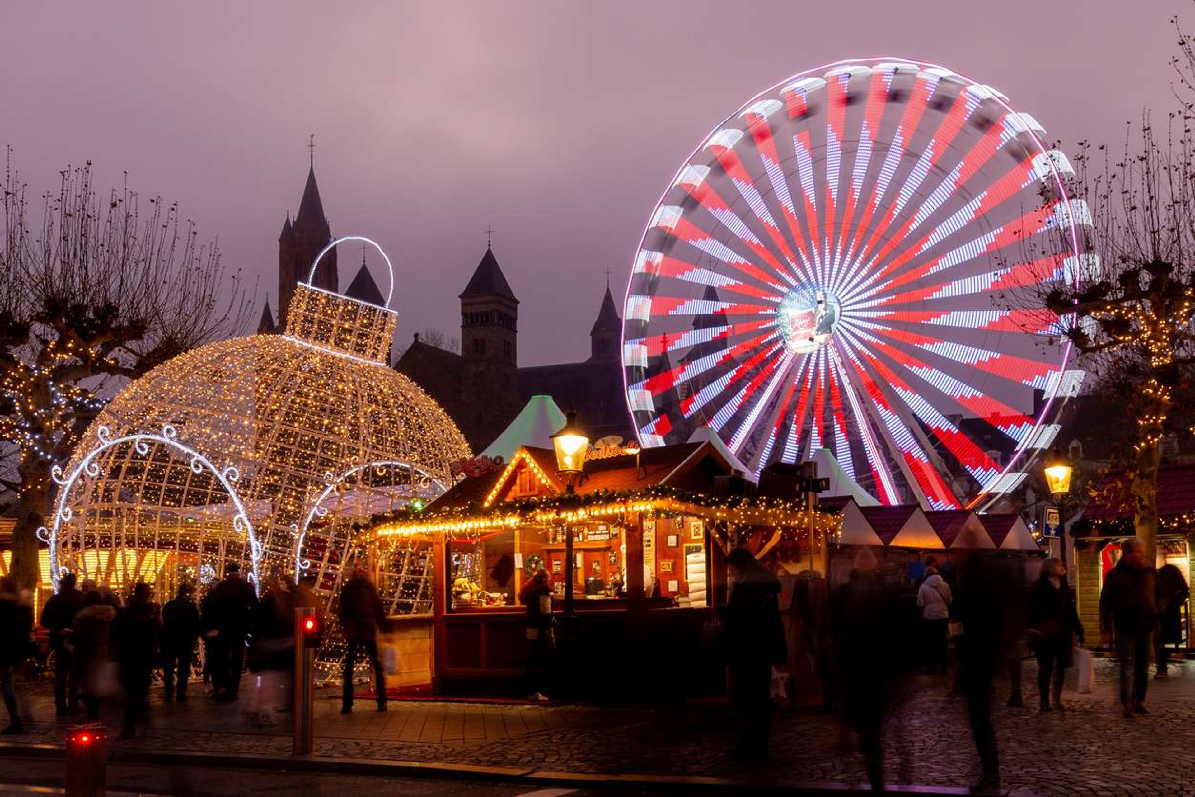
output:
[[[993,88],[991,86],[987,86],[986,84],[981,84],[981,82],[979,82],[979,81],[976,81],[976,80],[974,80],[974,79],[972,79],[972,78],[969,78],[969,76],[964,75],[963,73],[960,73],[960,72],[957,72],[955,69],[950,69],[950,68],[946,68],[946,67],[943,67],[940,65],[937,65],[937,63],[933,63],[933,62],[929,62],[929,61],[920,61],[920,60],[915,60],[915,59],[906,59],[906,57],[900,57],[900,56],[874,56],[874,57],[863,57],[863,59],[841,59],[841,60],[827,62],[827,63],[825,63],[822,66],[819,66],[819,67],[814,67],[814,68],[810,68],[810,69],[805,69],[805,70],[798,72],[798,73],[796,73],[796,74],[793,74],[791,76],[788,76],[788,78],[785,78],[783,80],[777,81],[776,84],[773,84],[772,86],[765,88],[764,91],[758,92],[755,96],[753,96],[750,99],[748,99],[741,106],[739,106],[733,114],[728,115],[718,124],[713,125],[700,139],[699,143],[681,161],[680,167],[673,173],[672,179],[668,182],[667,186],[661,192],[658,200],[654,203],[651,214],[649,215],[648,222],[644,226],[644,232],[641,235],[639,243],[638,243],[638,245],[637,245],[637,247],[635,250],[636,260],[638,260],[638,258],[645,251],[645,249],[648,246],[649,237],[658,227],[658,214],[660,214],[660,210],[666,207],[666,203],[668,202],[669,195],[672,192],[674,192],[674,190],[678,188],[678,185],[680,185],[684,176],[686,174],[686,171],[691,170],[694,164],[700,163],[703,151],[707,149],[711,146],[711,143],[713,143],[716,141],[716,136],[718,136],[719,133],[722,133],[723,130],[737,130],[741,134],[746,134],[746,130],[749,128],[749,124],[744,123],[744,116],[747,114],[750,114],[753,108],[759,108],[760,104],[764,100],[776,99],[779,96],[779,93],[785,87],[792,87],[792,86],[797,85],[798,81],[803,81],[803,80],[807,80],[807,79],[810,79],[810,78],[822,79],[822,81],[825,84],[826,81],[829,81],[829,79],[832,76],[834,76],[835,74],[841,74],[841,73],[845,72],[848,75],[853,75],[853,73],[850,72],[851,67],[865,68],[869,72],[872,72],[874,69],[876,69],[878,67],[891,67],[894,75],[896,74],[897,70],[900,70],[902,67],[905,67],[905,68],[915,69],[918,76],[920,76],[920,74],[923,74],[923,73],[930,73],[930,74],[936,75],[942,81],[961,82],[961,84],[963,84],[963,91],[970,90],[973,87],[983,91],[985,92],[983,99],[991,99],[991,100],[993,100],[994,103],[998,104],[998,106],[1001,109],[1001,111],[1003,111],[1004,115],[1007,115],[1010,118],[1015,118],[1015,119],[1019,121],[1021,130],[1018,133],[1025,134],[1028,136],[1028,139],[1032,142],[1032,145],[1036,148],[1037,153],[1040,155],[1043,155],[1042,164],[1048,168],[1048,179],[1053,184],[1054,190],[1056,191],[1056,200],[1055,200],[1054,204],[1055,206],[1062,206],[1065,208],[1065,210],[1062,211],[1061,215],[1064,216],[1064,221],[1062,222],[1065,223],[1066,239],[1067,239],[1067,241],[1070,244],[1070,247],[1068,247],[1070,251],[1067,252],[1067,257],[1074,258],[1074,260],[1077,263],[1076,271],[1072,275],[1073,278],[1074,280],[1079,280],[1080,278],[1079,277],[1079,266],[1078,266],[1078,264],[1079,264],[1079,260],[1080,260],[1080,258],[1083,256],[1083,247],[1081,247],[1081,244],[1080,244],[1080,235],[1079,235],[1079,232],[1078,232],[1078,225],[1076,223],[1076,219],[1074,219],[1074,213],[1073,213],[1074,207],[1072,204],[1072,197],[1070,196],[1070,192],[1066,190],[1065,182],[1064,182],[1062,176],[1061,176],[1061,173],[1060,173],[1060,171],[1058,168],[1058,164],[1054,160],[1054,154],[1056,153],[1056,151],[1052,149],[1050,147],[1048,147],[1043,142],[1042,137],[1038,135],[1038,130],[1042,130],[1041,125],[1037,124],[1036,121],[1032,119],[1032,117],[1030,117],[1028,114],[1023,114],[1023,112],[1016,110],[1015,108],[1012,108],[1012,105],[1009,102],[1009,98],[1003,92],[1000,92],[999,90],[995,90],[995,88]],[[982,100],[980,100],[980,103],[981,102]],[[1028,117],[1028,119],[1027,119],[1027,117]],[[915,133],[915,130],[914,130],[914,133]],[[841,143],[846,145],[846,143],[848,143],[848,140],[844,139]],[[733,147],[734,147],[734,143],[729,145],[729,148],[733,148]],[[1064,155],[1064,159],[1065,159],[1065,155]],[[958,185],[957,190],[962,191],[962,186]],[[829,232],[827,232],[827,234],[829,234]],[[1059,257],[1059,262],[1062,262],[1062,259],[1064,258],[1060,256]],[[793,263],[793,265],[795,265],[795,263]],[[1064,268],[1064,272],[1065,272],[1065,268]],[[627,317],[627,313],[629,313],[629,307],[630,307],[631,300],[635,296],[635,277],[636,277],[636,272],[632,270],[632,275],[631,275],[631,278],[627,282],[626,294],[625,294],[625,298],[624,298],[624,319],[625,319],[625,321],[630,320],[629,317]],[[834,304],[834,301],[835,300],[833,298],[829,298],[829,304]],[[821,302],[819,302],[819,304],[821,304]],[[621,345],[621,351],[623,351],[623,355],[624,355],[624,368],[623,368],[624,396],[627,397],[629,409],[630,409],[630,411],[632,413],[632,417],[635,417],[636,416],[636,410],[635,410],[635,406],[633,406],[633,404],[631,403],[631,399],[630,399],[630,390],[632,387],[631,382],[630,382],[630,376],[629,376],[630,368],[626,366],[626,362],[625,362],[626,343],[627,343],[627,324],[625,321],[624,321],[623,337],[621,337],[621,344],[623,344]],[[831,333],[832,333],[832,330],[829,330],[828,333],[825,337],[829,338]],[[642,337],[639,339],[648,339],[648,338],[644,336],[644,337]],[[821,348],[821,347],[825,345],[825,341],[821,341],[820,343],[821,343],[821,345],[819,345],[816,348]],[[1061,343],[1060,348],[1061,348],[1061,356],[1058,360],[1056,368],[1053,370],[1053,375],[1055,378],[1050,379],[1047,382],[1046,390],[1043,390],[1043,401],[1042,401],[1041,406],[1034,412],[1035,417],[1034,417],[1034,422],[1032,422],[1031,429],[1029,430],[1028,434],[1023,435],[1021,437],[1021,440],[1017,442],[1017,446],[1013,448],[1013,450],[1011,452],[1011,455],[1009,456],[1007,464],[1004,465],[1003,468],[1000,468],[1000,471],[995,476],[995,478],[993,478],[989,482],[987,482],[987,484],[981,488],[981,490],[979,491],[978,495],[975,495],[970,499],[963,499],[962,503],[967,508],[974,508],[974,507],[976,507],[978,504],[980,504],[981,502],[983,502],[985,498],[989,498],[991,499],[991,501],[988,501],[988,504],[987,504],[987,505],[991,505],[991,502],[993,502],[995,499],[995,497],[998,497],[1000,493],[1003,493],[1004,491],[1006,491],[1006,489],[1005,489],[1005,490],[997,491],[995,495],[992,495],[992,488],[995,486],[995,485],[1001,484],[1005,480],[1005,477],[1007,477],[1009,474],[1015,474],[1016,476],[1015,468],[1017,468],[1019,465],[1024,465],[1025,467],[1028,467],[1028,464],[1036,455],[1035,452],[1038,448],[1032,447],[1031,443],[1035,440],[1037,440],[1038,433],[1043,431],[1042,427],[1043,427],[1043,424],[1047,423],[1047,419],[1054,417],[1054,415],[1056,413],[1058,406],[1061,406],[1061,403],[1066,400],[1067,396],[1066,396],[1066,393],[1064,393],[1064,391],[1070,391],[1070,388],[1066,387],[1066,375],[1068,373],[1067,372],[1067,366],[1068,366],[1068,363],[1072,360],[1073,347],[1072,347],[1072,344],[1071,344],[1071,342],[1068,339],[1062,338],[1062,343]],[[790,350],[792,350],[791,347],[790,347]],[[798,379],[799,379],[799,376],[798,376]],[[1080,375],[1080,379],[1081,379],[1081,375]],[[645,446],[648,446],[648,445],[660,445],[656,441],[652,441],[650,439],[645,439],[645,435],[643,434],[643,425],[639,423],[638,418],[636,418],[635,425],[636,425],[636,435],[639,437],[642,445],[645,445]],[[759,466],[759,470],[761,470],[766,464],[767,462],[761,461],[760,466]]]

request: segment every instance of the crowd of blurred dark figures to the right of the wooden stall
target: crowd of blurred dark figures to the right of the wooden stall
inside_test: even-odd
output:
[[[1007,705],[1021,706],[1022,660],[1037,662],[1038,710],[1065,711],[1062,685],[1074,651],[1086,639],[1066,568],[1056,558],[1041,562],[1038,576],[1025,584],[1017,563],[974,551],[956,554],[948,581],[927,557],[914,584],[920,632],[903,614],[896,583],[887,580],[870,548],[860,548],[845,583],[829,596],[833,627],[832,664],[822,673],[833,682],[832,701],[841,718],[840,749],[853,737],[874,791],[885,785],[884,731],[896,709],[909,698],[917,672],[943,676],[943,686],[962,698],[979,758],[975,793],[998,793],[1000,756],[992,722],[992,700],[1004,679]],[[730,594],[722,614],[725,656],[740,712],[739,744],[731,759],[758,764],[768,753],[771,664],[784,658],[776,642],[780,618],[774,595],[779,582],[749,552],[728,556]],[[1104,580],[1099,601],[1101,639],[1120,661],[1119,697],[1126,718],[1147,713],[1148,667],[1166,678],[1166,645],[1178,642],[1181,607],[1189,596],[1173,565],[1154,569],[1145,545],[1130,539]],[[917,638],[919,644],[909,645]],[[954,676],[949,676],[954,644]],[[897,742],[901,740],[897,738]]]

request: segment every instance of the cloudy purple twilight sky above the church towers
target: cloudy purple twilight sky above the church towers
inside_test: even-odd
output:
[[[1175,13],[1195,27],[1189,0],[13,4],[0,143],[35,195],[67,163],[91,159],[102,186],[127,170],[276,306],[314,133],[332,233],[373,237],[397,265],[402,343],[459,332],[492,223],[521,364],[574,361],[605,271],[621,302],[668,179],[756,92],[903,56],[995,86],[1064,146],[1117,141],[1173,105]],[[342,288],[360,258],[345,250]]]

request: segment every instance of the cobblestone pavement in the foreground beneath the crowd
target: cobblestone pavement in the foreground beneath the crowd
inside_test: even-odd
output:
[[[1195,662],[1183,662],[1166,681],[1151,681],[1150,713],[1124,719],[1115,703],[1116,664],[1098,660],[1096,691],[1065,695],[1067,711],[1038,715],[1035,668],[1024,673],[1024,709],[1006,709],[998,685],[995,709],[1006,785],[1038,795],[1195,795]],[[246,693],[243,692],[241,701]],[[779,711],[773,762],[752,772],[725,761],[734,734],[725,706],[593,707],[391,703],[386,713],[358,700],[338,713],[321,695],[315,716],[318,755],[404,761],[528,767],[534,770],[690,774],[768,783],[863,780],[862,760],[839,755],[836,718]],[[153,707],[153,727],[134,741],[157,750],[289,754],[289,715],[271,729],[253,729],[241,705],[202,697]],[[61,740],[65,723],[47,719],[45,697],[32,700],[33,731],[23,741]],[[116,724],[116,706],[105,717]],[[14,738],[13,741],[17,741]],[[894,711],[887,732],[893,783],[961,786],[978,777],[962,700],[944,679],[919,678]]]

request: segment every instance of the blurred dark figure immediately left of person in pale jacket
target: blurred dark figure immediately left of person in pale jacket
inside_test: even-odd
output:
[[[901,667],[896,661],[895,595],[876,565],[871,548],[860,548],[847,582],[834,595],[834,660],[844,731],[853,731],[858,740],[871,790],[883,791],[882,732]],[[942,633],[944,637],[945,629]]]

